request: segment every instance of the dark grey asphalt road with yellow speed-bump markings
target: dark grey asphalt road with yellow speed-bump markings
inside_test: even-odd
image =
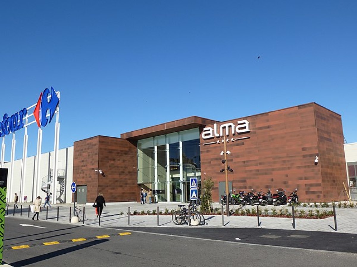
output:
[[[355,266],[357,262],[357,236],[353,234],[251,228],[115,229],[30,223],[16,217],[7,217],[5,222],[3,261],[11,266],[336,267]],[[131,234],[119,235],[127,232]],[[58,244],[43,244],[54,241]],[[12,249],[21,245],[29,248]]]

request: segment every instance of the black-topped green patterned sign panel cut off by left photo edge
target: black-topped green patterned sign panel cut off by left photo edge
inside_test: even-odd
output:
[[[6,210],[7,169],[0,168],[0,265],[4,246],[5,210]]]

